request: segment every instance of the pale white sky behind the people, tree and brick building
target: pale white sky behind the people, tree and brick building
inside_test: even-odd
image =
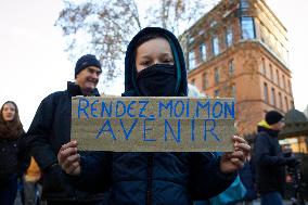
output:
[[[308,1],[268,3],[288,30],[295,107],[304,111],[308,104]],[[15,101],[26,130],[40,101],[74,80],[74,63],[64,52],[61,29],[54,27],[62,8],[62,0],[0,0],[0,104]],[[121,80],[116,84],[110,93],[124,89]]]

